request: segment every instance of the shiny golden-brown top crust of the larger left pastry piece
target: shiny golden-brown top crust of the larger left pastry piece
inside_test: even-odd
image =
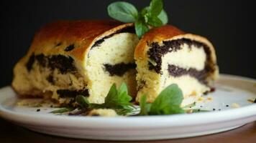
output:
[[[75,44],[76,48],[68,52],[68,55],[83,60],[93,41],[111,34],[118,29],[132,24],[122,24],[119,21],[55,21],[43,26],[35,35],[28,54],[39,52],[43,54],[67,54],[62,48],[54,47],[62,43]]]

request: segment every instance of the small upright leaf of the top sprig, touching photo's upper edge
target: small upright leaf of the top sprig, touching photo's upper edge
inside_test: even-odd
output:
[[[152,0],[150,2],[150,15],[158,16],[160,12],[163,10],[163,0]]]

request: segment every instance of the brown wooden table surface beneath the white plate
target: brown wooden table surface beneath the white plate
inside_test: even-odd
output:
[[[97,141],[97,140],[86,140],[86,139],[70,139],[65,137],[55,137],[47,134],[40,134],[37,132],[29,131],[17,125],[14,125],[10,122],[6,122],[4,119],[0,119],[0,142],[1,143],[21,143],[21,142],[37,142],[37,143],[105,143],[111,141]],[[137,142],[137,141],[136,141]],[[157,141],[141,141],[140,143],[145,142],[156,142],[156,143],[173,143],[173,142],[189,142],[189,143],[234,143],[234,142],[256,142],[256,122],[246,124],[237,129],[233,129],[228,132],[222,132],[219,134],[211,134],[201,137],[191,137],[186,139],[170,139],[170,140],[157,140]],[[133,141],[134,143],[134,141]]]

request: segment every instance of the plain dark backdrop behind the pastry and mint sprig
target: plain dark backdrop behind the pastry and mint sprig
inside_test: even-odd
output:
[[[26,53],[37,29],[58,19],[109,19],[107,0],[1,1],[0,87]],[[150,1],[129,1],[137,8]],[[250,1],[165,0],[169,24],[206,36],[215,46],[221,73],[256,79],[255,9]]]

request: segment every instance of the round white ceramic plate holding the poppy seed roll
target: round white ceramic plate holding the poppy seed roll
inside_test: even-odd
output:
[[[256,104],[247,100],[255,98],[255,79],[221,75],[216,91],[205,96],[205,100],[195,107],[212,112],[147,117],[73,117],[49,114],[52,108],[47,107],[17,107],[17,95],[11,87],[4,87],[0,89],[0,117],[36,132],[63,137],[173,139],[224,132],[253,122],[256,120]],[[232,108],[233,103],[240,107]],[[41,111],[36,112],[39,108]]]

